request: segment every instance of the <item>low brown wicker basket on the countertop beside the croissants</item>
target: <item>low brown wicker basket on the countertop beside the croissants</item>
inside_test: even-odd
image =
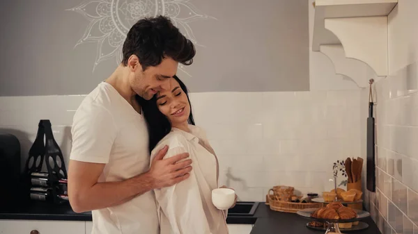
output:
[[[323,207],[323,203],[295,203],[290,201],[279,201],[275,198],[273,194],[270,194],[270,191],[269,194],[265,196],[265,203],[270,206],[270,210],[295,213],[299,210],[304,210],[308,208]]]

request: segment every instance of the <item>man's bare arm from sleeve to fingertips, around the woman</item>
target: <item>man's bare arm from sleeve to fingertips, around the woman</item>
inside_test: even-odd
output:
[[[98,210],[117,206],[150,190],[169,187],[189,177],[192,160],[187,153],[162,159],[167,153],[164,147],[155,156],[148,172],[125,181],[98,183],[104,165],[102,163],[70,160],[68,168],[68,197],[75,212]]]

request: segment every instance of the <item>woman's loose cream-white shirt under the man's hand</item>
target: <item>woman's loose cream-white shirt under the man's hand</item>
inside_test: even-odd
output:
[[[226,214],[212,204],[212,190],[218,187],[217,158],[203,147],[208,145],[203,130],[192,125],[189,129],[191,133],[173,128],[151,152],[150,162],[165,145],[169,150],[164,158],[187,152],[193,167],[185,181],[154,190],[160,234],[227,234]]]

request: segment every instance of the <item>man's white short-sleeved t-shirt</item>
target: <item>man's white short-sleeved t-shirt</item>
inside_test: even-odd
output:
[[[82,101],[71,133],[71,160],[106,164],[98,182],[124,181],[149,169],[145,119],[109,83],[100,83]],[[160,233],[152,191],[92,215],[91,234]]]

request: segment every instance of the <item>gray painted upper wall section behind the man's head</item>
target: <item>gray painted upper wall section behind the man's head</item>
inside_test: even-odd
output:
[[[307,0],[189,0],[194,6],[109,0],[79,6],[88,2],[0,1],[0,96],[90,92],[121,60],[123,33],[140,17],[161,13],[161,6],[198,44],[194,64],[178,72],[191,92],[309,90]],[[111,3],[118,4],[117,14]],[[98,15],[102,21],[87,31]]]

